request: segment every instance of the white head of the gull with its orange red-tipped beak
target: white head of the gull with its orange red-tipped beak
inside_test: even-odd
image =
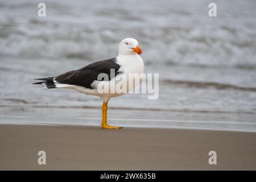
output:
[[[119,43],[119,54],[121,55],[140,55],[141,47],[138,46],[138,41],[133,38],[126,38]]]

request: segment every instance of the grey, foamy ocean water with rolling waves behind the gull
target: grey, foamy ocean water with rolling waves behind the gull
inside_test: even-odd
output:
[[[132,37],[143,49],[145,72],[159,73],[159,98],[113,98],[110,109],[130,110],[120,119],[256,131],[255,1],[215,1],[212,18],[211,1],[203,0],[44,1],[46,17],[37,15],[39,2],[0,1],[0,114],[10,108],[9,115],[22,115],[15,107],[100,109],[97,97],[31,83],[114,57],[119,41]]]

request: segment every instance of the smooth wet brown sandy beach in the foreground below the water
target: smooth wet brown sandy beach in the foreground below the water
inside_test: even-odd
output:
[[[0,125],[0,146],[1,170],[256,169],[256,134],[235,131]]]

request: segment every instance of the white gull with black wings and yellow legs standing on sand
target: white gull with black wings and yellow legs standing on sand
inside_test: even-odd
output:
[[[142,49],[138,46],[138,41],[133,38],[126,38],[119,43],[118,56],[97,61],[59,76],[37,78],[35,80],[41,81],[35,82],[34,84],[40,84],[44,89],[73,89],[86,95],[101,97],[103,100],[101,128],[121,129],[122,127],[108,125],[108,102],[110,98],[122,96],[130,90],[133,90],[139,84],[141,75],[144,72],[143,60],[141,56],[139,56],[141,53]],[[114,73],[114,75],[112,73]],[[107,78],[99,78],[102,74],[107,76]],[[135,78],[130,78],[130,74],[135,75]],[[128,80],[126,78],[128,78]],[[134,82],[136,78],[139,78],[139,81]],[[125,88],[127,92],[102,92],[102,90],[99,90],[99,88],[112,90],[117,80],[123,81],[124,88],[127,86],[127,88]]]

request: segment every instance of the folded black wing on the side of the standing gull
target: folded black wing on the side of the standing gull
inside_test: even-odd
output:
[[[115,62],[115,58],[97,61],[96,63],[89,64],[84,68],[59,75],[55,80],[61,84],[79,85],[84,86],[85,88],[92,88],[90,85],[94,80],[97,80],[100,73],[107,74],[109,80],[111,79],[110,69],[115,70],[115,76],[120,73],[118,72],[120,65]]]

